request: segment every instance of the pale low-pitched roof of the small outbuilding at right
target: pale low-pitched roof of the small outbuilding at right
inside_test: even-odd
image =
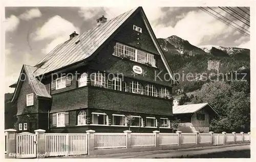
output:
[[[173,106],[173,114],[186,114],[186,113],[196,113],[197,111],[203,109],[208,105],[212,111],[214,111],[217,115],[218,113],[210,106],[209,103],[198,103],[198,104],[186,104],[186,105],[178,105]]]

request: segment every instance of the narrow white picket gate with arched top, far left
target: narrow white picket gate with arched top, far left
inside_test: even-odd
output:
[[[16,158],[36,158],[36,134],[22,132],[16,134]]]

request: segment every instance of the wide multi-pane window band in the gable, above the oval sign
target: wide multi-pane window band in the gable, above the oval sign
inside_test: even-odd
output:
[[[156,60],[154,59],[154,55],[144,52],[139,49],[135,49],[120,43],[116,43],[114,46],[114,56],[129,56],[130,60],[136,61],[142,64],[149,63],[152,66],[156,67]]]

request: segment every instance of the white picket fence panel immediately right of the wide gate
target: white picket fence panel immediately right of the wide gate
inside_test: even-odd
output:
[[[124,133],[94,133],[95,149],[126,148]]]

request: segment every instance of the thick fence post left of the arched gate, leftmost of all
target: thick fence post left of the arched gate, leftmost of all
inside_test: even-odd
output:
[[[5,158],[16,158],[16,130],[6,129],[6,154]]]

